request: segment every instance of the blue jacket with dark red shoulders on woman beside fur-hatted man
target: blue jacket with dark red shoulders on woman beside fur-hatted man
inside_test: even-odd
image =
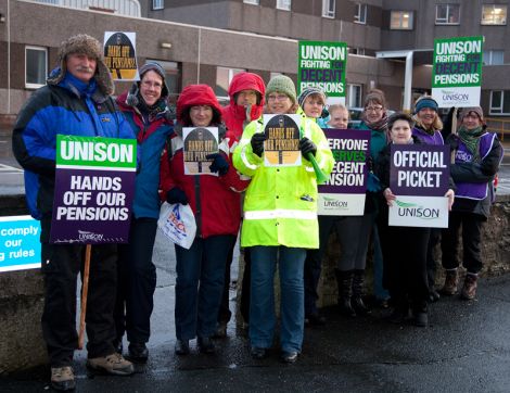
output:
[[[160,217],[160,163],[165,141],[174,130],[168,111],[160,112],[154,119],[144,119],[136,106],[127,104],[127,92],[117,98],[117,104],[128,124],[137,134],[138,173],[135,182],[132,214],[136,218]]]

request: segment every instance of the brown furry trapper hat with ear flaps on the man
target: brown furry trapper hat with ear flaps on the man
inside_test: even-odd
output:
[[[114,85],[110,69],[104,64],[101,43],[87,34],[78,34],[67,38],[59,48],[60,71],[48,78],[50,85],[58,85],[64,79],[67,72],[67,56],[69,54],[80,53],[94,59],[97,62],[94,79],[103,94],[110,96],[114,92]]]

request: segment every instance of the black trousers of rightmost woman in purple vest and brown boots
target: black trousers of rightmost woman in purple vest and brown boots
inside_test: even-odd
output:
[[[480,214],[451,212],[448,218],[448,228],[443,230],[441,249],[443,252],[443,267],[455,269],[462,262],[469,272],[477,274],[482,270],[483,262],[480,252],[482,226],[486,218]],[[462,259],[459,257],[459,234],[462,228]]]

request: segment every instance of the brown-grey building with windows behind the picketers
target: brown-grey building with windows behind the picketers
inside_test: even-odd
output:
[[[482,105],[510,116],[507,12],[501,0],[0,0],[0,116],[44,84],[63,39],[105,30],[135,31],[139,61],[162,63],[174,94],[202,83],[218,97],[240,71],[296,79],[298,40],[345,41],[346,103],[360,106],[377,87],[394,110],[430,91],[435,37],[483,35]]]

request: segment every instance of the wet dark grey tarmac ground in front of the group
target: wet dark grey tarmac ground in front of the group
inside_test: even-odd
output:
[[[510,386],[510,276],[482,279],[477,297],[442,299],[429,328],[392,325],[387,310],[343,318],[323,309],[328,325],[307,328],[294,365],[250,357],[245,331],[231,320],[215,355],[174,354],[175,259],[156,241],[157,289],[150,358],[131,377],[88,375],[86,353],[75,356],[77,392],[508,392]],[[231,291],[231,309],[235,292]],[[1,392],[48,390],[48,370],[0,379]]]

